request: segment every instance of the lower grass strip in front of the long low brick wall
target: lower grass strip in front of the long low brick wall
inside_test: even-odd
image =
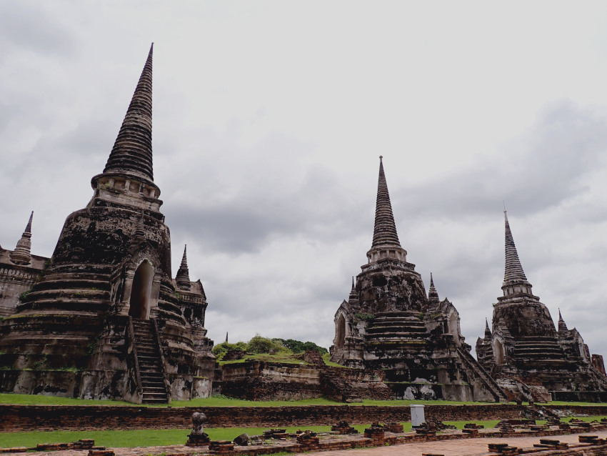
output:
[[[466,422],[446,422],[462,429]],[[495,427],[494,421],[475,421],[478,425]],[[353,425],[361,434],[368,425]],[[411,430],[411,422],[403,422],[405,432]],[[234,440],[246,432],[249,435],[261,435],[267,427],[206,427],[205,432],[211,440]],[[286,427],[287,432],[296,430],[311,430],[328,432],[331,426],[300,426]],[[103,447],[153,447],[160,445],[181,445],[188,440],[189,429],[160,429],[160,430],[105,430],[105,431],[48,431],[48,432],[0,432],[0,447],[35,447],[39,443],[68,443],[79,439],[94,439],[95,445]]]

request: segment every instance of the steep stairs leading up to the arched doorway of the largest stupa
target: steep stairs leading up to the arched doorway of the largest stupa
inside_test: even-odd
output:
[[[139,373],[141,375],[141,392],[144,404],[161,404],[169,402],[164,383],[164,369],[159,351],[159,344],[152,328],[152,322],[133,319],[135,347]]]

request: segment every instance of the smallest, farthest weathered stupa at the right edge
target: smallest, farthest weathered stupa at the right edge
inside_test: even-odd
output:
[[[493,323],[476,341],[478,362],[511,397],[607,400],[603,358],[590,355],[577,329],[558,312],[558,330],[546,305],[532,292],[504,211],[506,266],[503,296],[493,304]]]

